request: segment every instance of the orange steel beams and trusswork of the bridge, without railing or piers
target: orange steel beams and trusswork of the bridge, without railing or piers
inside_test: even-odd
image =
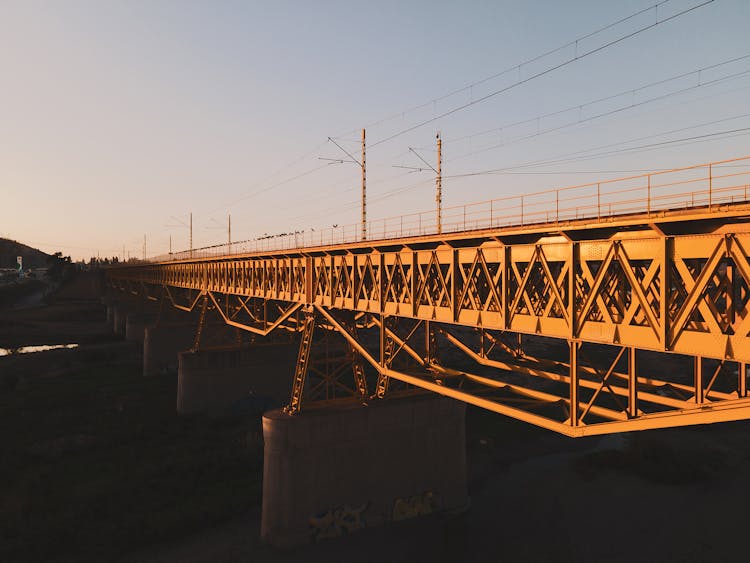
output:
[[[377,373],[377,382],[368,385],[364,367],[355,361],[353,394],[375,389],[384,397],[390,380],[401,381],[579,436],[747,417],[749,217],[750,204],[714,202],[711,209],[649,209],[647,223],[636,216],[584,222],[556,217],[554,224],[440,237],[123,265],[107,276],[120,291],[178,309],[192,311],[200,304],[201,319],[210,303],[227,325],[259,336],[292,330],[303,332],[304,341],[311,329],[300,312],[312,306],[320,328],[341,334],[353,357]],[[372,321],[362,320],[356,330],[337,319],[342,316]],[[399,319],[397,331],[390,323]],[[475,337],[459,327],[479,331],[479,352],[472,349]],[[379,333],[375,357],[363,345],[368,330]],[[410,340],[422,336],[417,331],[423,331],[423,342]],[[490,331],[519,344],[515,350],[501,346]],[[498,368],[497,379],[439,365],[445,338],[436,338],[436,332],[479,364]],[[525,335],[566,343],[567,363],[530,358],[520,343],[533,344],[533,338]],[[600,345],[619,350],[613,361],[600,365],[582,358],[582,347],[588,356],[589,348]],[[491,358],[493,350],[511,360]],[[647,361],[643,351],[692,357],[692,378],[644,377],[636,362]],[[395,369],[397,356],[415,360],[414,372]],[[621,356],[625,373],[616,369]],[[718,367],[704,373],[704,362],[716,361]],[[728,368],[735,364],[736,379]],[[300,369],[304,365],[300,362]],[[512,383],[509,372],[555,381],[559,394],[542,384]],[[294,381],[299,394],[293,394],[290,409],[297,412],[302,371]],[[472,393],[471,387],[479,390]],[[500,391],[559,402],[567,418],[541,416],[531,406],[524,410],[486,395]],[[597,417],[610,422],[590,420]]]

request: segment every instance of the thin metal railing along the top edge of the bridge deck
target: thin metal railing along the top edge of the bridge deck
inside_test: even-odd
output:
[[[661,170],[600,182],[567,186],[443,208],[442,233],[602,220],[666,210],[706,208],[750,200],[750,156]],[[192,250],[162,254],[150,261],[271,252],[355,243],[363,240],[361,223],[306,229]],[[435,210],[370,221],[368,240],[438,233]]]

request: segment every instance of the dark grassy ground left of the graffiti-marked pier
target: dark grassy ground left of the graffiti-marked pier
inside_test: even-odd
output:
[[[177,416],[139,368],[0,393],[0,561],[111,560],[260,503],[259,417]]]

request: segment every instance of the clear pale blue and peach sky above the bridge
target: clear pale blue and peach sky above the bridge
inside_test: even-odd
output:
[[[88,259],[140,256],[144,235],[150,255],[187,248],[190,212],[196,247],[228,213],[235,240],[355,223],[359,168],[320,159],[342,156],[329,136],[358,155],[364,126],[371,218],[433,207],[432,173],[394,165],[432,162],[437,130],[446,205],[750,155],[750,130],[623,151],[750,128],[750,58],[639,89],[750,55],[747,0],[477,101],[702,1],[576,45],[657,0],[0,0],[0,236]]]

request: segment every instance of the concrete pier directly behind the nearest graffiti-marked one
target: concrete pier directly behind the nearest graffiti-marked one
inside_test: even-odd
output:
[[[181,352],[177,412],[216,412],[243,408],[243,403],[265,410],[263,405],[285,404],[296,361],[294,344]]]

